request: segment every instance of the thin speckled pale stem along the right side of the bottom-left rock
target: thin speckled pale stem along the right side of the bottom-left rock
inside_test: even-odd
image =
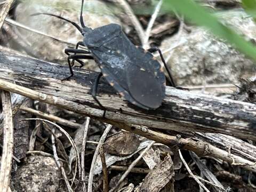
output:
[[[44,124],[47,125],[46,123],[44,123]],[[61,174],[62,174],[62,176],[64,178],[64,181],[66,183],[68,191],[69,192],[73,192],[73,189],[71,188],[70,183],[68,181],[68,177],[67,177],[67,175],[65,173],[65,170],[63,169],[63,166],[60,164],[60,160],[59,160],[59,157],[58,157],[58,154],[57,154],[57,149],[56,149],[56,145],[55,145],[55,137],[54,137],[55,129],[52,129],[51,131],[52,131],[52,135],[51,135],[52,151],[53,151],[53,156],[54,156],[55,162],[56,162],[57,166],[59,167],[59,169],[61,170]]]

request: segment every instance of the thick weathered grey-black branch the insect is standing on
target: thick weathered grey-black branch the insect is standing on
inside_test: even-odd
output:
[[[101,121],[145,125],[176,131],[214,132],[256,140],[256,105],[194,94],[166,87],[166,98],[157,110],[142,110],[119,97],[105,81],[99,86],[98,99],[103,111],[91,97],[97,73],[0,52],[0,89],[41,100],[51,105],[100,118]],[[9,83],[8,83],[9,82]],[[122,113],[120,109],[122,108]]]

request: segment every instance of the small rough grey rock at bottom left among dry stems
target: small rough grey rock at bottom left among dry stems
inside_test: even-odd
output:
[[[29,156],[15,172],[12,182],[17,191],[55,192],[60,179],[61,173],[53,158]]]

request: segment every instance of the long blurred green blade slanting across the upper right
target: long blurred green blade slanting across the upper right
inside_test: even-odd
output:
[[[165,0],[164,5],[169,11],[178,11],[196,25],[209,28],[214,35],[226,39],[239,51],[256,61],[256,47],[251,42],[235,33],[230,28],[222,25],[216,17],[208,13],[202,6],[191,0]]]

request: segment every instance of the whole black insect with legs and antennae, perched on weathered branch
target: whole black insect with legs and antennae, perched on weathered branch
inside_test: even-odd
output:
[[[123,33],[121,26],[117,24],[110,24],[95,29],[86,27],[82,15],[83,4],[84,0],[82,0],[80,14],[82,28],[75,22],[58,15],[49,13],[34,14],[51,15],[70,22],[83,35],[83,42],[78,42],[75,49],[65,50],[65,53],[69,55],[68,65],[71,73],[68,78],[74,76],[72,70],[74,61],[79,62],[82,67],[84,63],[81,59],[93,59],[98,63],[101,73],[95,79],[92,97],[102,109],[105,110],[105,107],[101,105],[96,97],[102,75],[122,97],[133,105],[147,110],[156,109],[161,106],[162,100],[165,97],[166,80],[163,68],[151,53],[159,52],[170,77],[170,84],[175,86],[161,51],[157,47],[144,50],[141,47],[135,46]],[[89,51],[78,49],[78,46],[87,47]],[[71,55],[70,53],[74,54]]]

